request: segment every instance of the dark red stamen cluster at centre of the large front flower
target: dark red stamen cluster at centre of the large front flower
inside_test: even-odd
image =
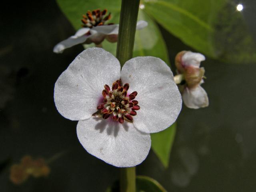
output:
[[[124,120],[132,122],[132,116],[137,114],[136,110],[139,110],[140,106],[138,106],[138,101],[134,100],[138,93],[134,91],[127,96],[128,89],[129,84],[122,86],[121,80],[113,83],[112,90],[105,85],[102,91],[104,101],[97,106],[98,111],[92,116],[107,119],[112,115],[112,119],[119,123],[124,123]]]

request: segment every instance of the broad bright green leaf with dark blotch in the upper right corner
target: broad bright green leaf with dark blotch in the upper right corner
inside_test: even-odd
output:
[[[147,0],[145,11],[185,44],[212,58],[256,61],[256,45],[228,0]]]

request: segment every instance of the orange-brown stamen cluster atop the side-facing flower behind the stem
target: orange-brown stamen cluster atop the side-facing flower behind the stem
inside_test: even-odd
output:
[[[88,11],[86,16],[83,15],[83,19],[81,20],[83,23],[82,27],[92,28],[95,26],[104,25],[104,23],[111,18],[111,14],[109,13],[107,16],[105,16],[106,13],[106,9],[103,11],[100,11],[99,9],[93,10],[92,12]]]

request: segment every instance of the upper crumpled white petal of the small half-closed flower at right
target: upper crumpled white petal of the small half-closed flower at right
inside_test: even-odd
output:
[[[182,64],[184,66],[193,65],[196,67],[200,66],[200,62],[205,60],[205,56],[200,53],[194,53],[187,51],[182,56]]]

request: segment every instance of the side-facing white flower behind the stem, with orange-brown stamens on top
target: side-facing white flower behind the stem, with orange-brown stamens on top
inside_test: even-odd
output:
[[[66,48],[70,48],[77,44],[91,44],[99,45],[106,38],[109,42],[117,42],[118,37],[118,24],[105,24],[111,17],[110,14],[106,15],[107,10],[102,12],[98,10],[88,11],[86,16],[83,15],[82,27],[76,34],[58,43],[53,48],[53,52],[62,53]],[[146,21],[138,21],[137,30],[146,27]]]

